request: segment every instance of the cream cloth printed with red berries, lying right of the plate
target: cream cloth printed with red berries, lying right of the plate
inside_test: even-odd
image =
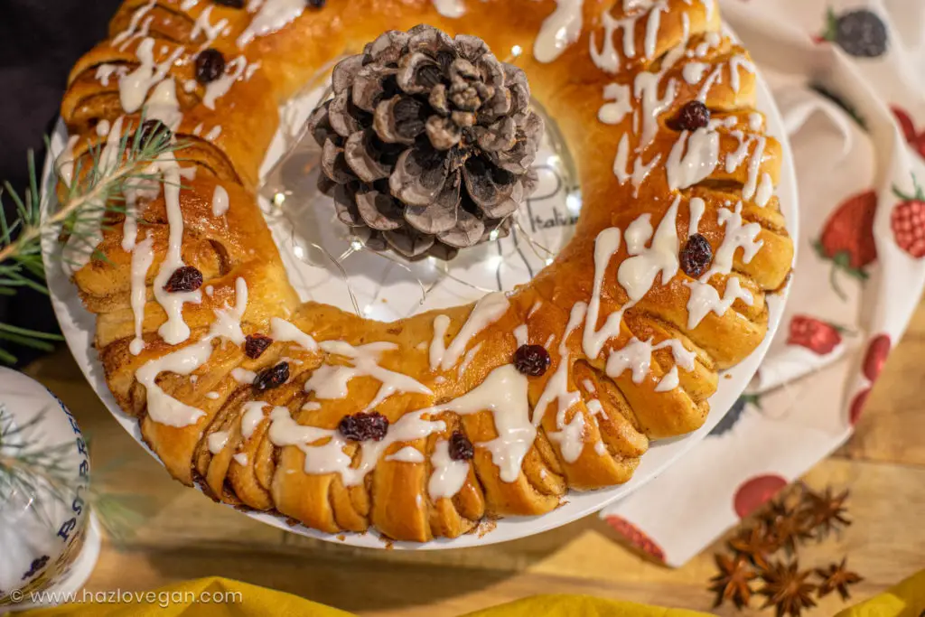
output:
[[[746,394],[682,463],[601,512],[672,566],[851,436],[925,285],[925,2],[720,4],[789,131],[800,237]]]

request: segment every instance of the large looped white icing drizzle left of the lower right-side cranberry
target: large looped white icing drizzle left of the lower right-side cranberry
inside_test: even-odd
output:
[[[588,358],[597,358],[604,344],[611,337],[620,334],[623,313],[652,289],[655,278],[661,274],[661,284],[667,285],[678,270],[678,233],[676,228],[678,204],[681,196],[675,198],[672,206],[662,217],[659,228],[652,234],[650,215],[638,216],[626,228],[626,251],[631,256],[623,260],[617,270],[617,280],[629,296],[620,309],[607,316],[598,330],[600,292],[604,274],[611,258],[620,249],[620,229],[607,228],[598,234],[594,249],[594,287],[588,302],[585,332],[582,346]],[[651,246],[646,243],[651,239]]]

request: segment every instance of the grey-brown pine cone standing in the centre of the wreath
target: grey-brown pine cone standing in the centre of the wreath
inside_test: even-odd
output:
[[[367,246],[443,259],[506,235],[533,191],[543,120],[520,68],[474,36],[388,31],[334,68],[309,117],[319,186]]]

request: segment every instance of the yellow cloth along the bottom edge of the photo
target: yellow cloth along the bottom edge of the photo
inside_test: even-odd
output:
[[[89,593],[89,592],[88,592]],[[101,592],[102,593],[102,592]],[[128,592],[127,592],[128,593]],[[236,597],[216,603],[215,598]],[[80,598],[80,594],[78,595]],[[100,596],[102,598],[102,596]],[[199,601],[196,601],[196,599]],[[208,598],[210,601],[204,601]],[[99,598],[96,598],[99,599]],[[166,586],[153,592],[138,592],[135,601],[77,604],[23,613],[25,617],[351,617],[281,591],[228,580],[201,578]],[[892,589],[838,613],[836,617],[921,617],[925,612],[925,570],[910,576]],[[464,617],[709,617],[707,613],[666,609],[635,602],[588,596],[536,596],[503,604]]]

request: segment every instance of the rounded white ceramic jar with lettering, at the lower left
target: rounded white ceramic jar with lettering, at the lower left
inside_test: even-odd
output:
[[[41,594],[86,581],[100,545],[89,486],[87,443],[68,408],[0,368],[0,613],[61,601]]]

